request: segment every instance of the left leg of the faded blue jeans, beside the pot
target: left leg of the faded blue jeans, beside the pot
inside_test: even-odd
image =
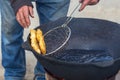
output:
[[[26,72],[23,28],[15,19],[10,0],[0,0],[2,11],[2,65],[5,69],[5,80],[23,80]]]

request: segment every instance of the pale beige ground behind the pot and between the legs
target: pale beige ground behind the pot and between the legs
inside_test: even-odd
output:
[[[79,0],[71,0],[68,16],[70,12],[74,9],[75,5],[78,4]],[[120,23],[120,0],[100,0],[99,4],[95,6],[87,6],[84,11],[82,12],[75,12],[74,17],[86,17],[86,18],[98,18],[98,19],[105,19],[113,22]],[[34,9],[35,10],[35,9]],[[32,24],[28,29],[24,31],[24,40],[26,40],[30,28],[35,28],[39,25],[38,23],[38,16],[35,10],[35,18],[31,19]],[[0,57],[1,60],[1,57]],[[27,73],[26,73],[26,80],[33,79],[33,70],[36,64],[36,59],[31,52],[26,51],[26,60],[27,60]],[[0,80],[3,79],[4,69],[0,65]],[[116,80],[120,80],[120,73],[116,75]]]

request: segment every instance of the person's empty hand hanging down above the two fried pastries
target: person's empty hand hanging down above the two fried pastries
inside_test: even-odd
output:
[[[17,21],[24,28],[27,28],[27,27],[30,26],[30,24],[31,24],[30,16],[32,18],[34,18],[34,16],[33,16],[33,8],[31,6],[26,6],[26,5],[22,6],[21,8],[19,8],[19,10],[16,13]]]

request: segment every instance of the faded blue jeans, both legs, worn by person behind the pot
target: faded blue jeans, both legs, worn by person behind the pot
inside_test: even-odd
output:
[[[69,0],[37,0],[36,8],[40,24],[66,16],[68,6]],[[2,65],[5,69],[5,80],[23,80],[26,73],[25,52],[21,47],[24,29],[15,19],[10,0],[0,0],[0,8],[2,9]],[[35,74],[44,74],[44,72],[41,64],[37,62]],[[39,80],[45,80],[45,77],[41,76]]]

